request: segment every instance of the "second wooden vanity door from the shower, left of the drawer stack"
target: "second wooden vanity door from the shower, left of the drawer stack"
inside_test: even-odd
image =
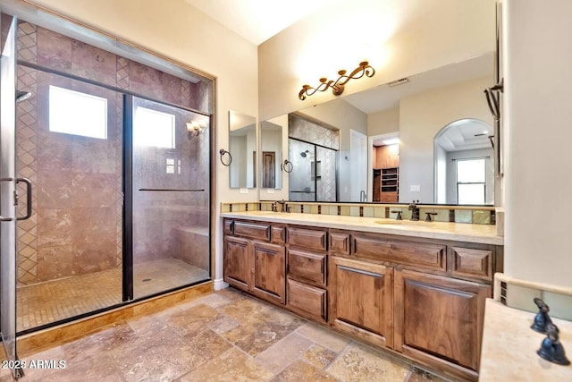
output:
[[[252,242],[254,280],[252,293],[258,297],[286,303],[286,252],[283,246]]]

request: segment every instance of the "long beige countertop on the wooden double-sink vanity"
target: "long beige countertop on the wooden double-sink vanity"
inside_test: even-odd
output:
[[[412,222],[381,217],[337,216],[299,214],[271,211],[224,212],[223,217],[255,219],[295,225],[312,225],[370,233],[399,234],[427,239],[454,240],[503,245],[503,238],[497,236],[495,225],[473,225],[467,223]]]

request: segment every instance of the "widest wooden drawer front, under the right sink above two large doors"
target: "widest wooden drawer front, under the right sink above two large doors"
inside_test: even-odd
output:
[[[447,270],[445,245],[425,242],[400,242],[366,235],[351,235],[351,256],[391,261],[427,269]]]

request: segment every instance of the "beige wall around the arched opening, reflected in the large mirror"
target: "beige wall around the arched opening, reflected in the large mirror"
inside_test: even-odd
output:
[[[476,118],[492,125],[483,90],[492,78],[460,82],[400,101],[400,202],[433,203],[435,134],[451,122]],[[420,192],[411,192],[419,185]]]

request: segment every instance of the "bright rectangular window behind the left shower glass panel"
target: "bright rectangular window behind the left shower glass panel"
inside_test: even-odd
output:
[[[107,139],[107,99],[50,85],[49,131]]]

